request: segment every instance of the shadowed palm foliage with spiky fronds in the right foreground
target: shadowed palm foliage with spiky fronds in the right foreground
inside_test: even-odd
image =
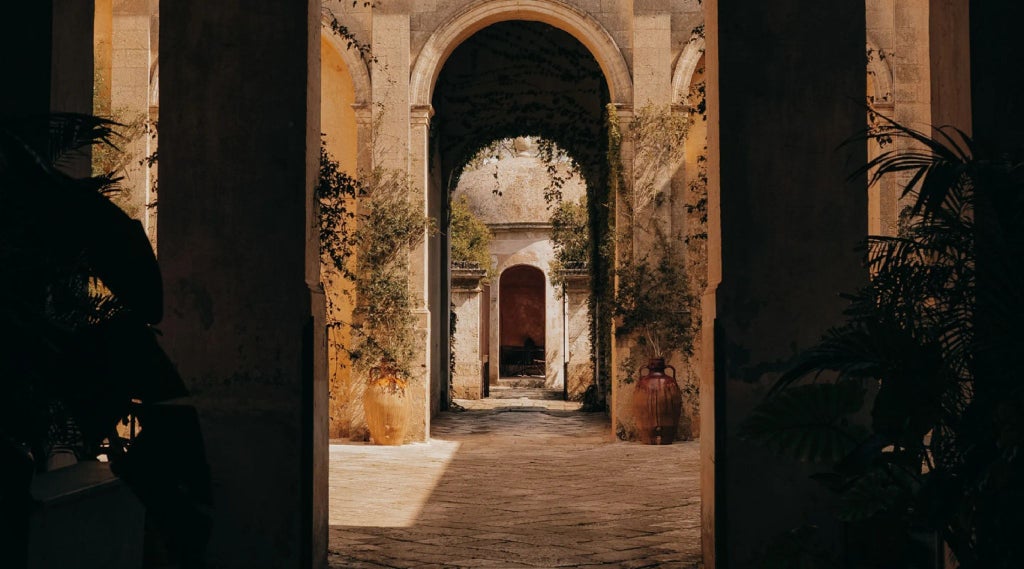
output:
[[[882,121],[869,138],[914,149],[857,175],[907,174],[906,224],[868,237],[871,278],[847,297],[846,321],[801,354],[744,434],[828,467],[816,478],[839,494],[839,518],[887,528],[903,552],[924,528],[962,568],[1019,567],[1024,166],[979,157],[955,129]]]

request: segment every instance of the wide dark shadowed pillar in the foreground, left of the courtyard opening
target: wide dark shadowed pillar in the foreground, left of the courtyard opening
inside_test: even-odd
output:
[[[319,3],[176,0],[160,16],[163,345],[211,468],[208,565],[324,567]]]

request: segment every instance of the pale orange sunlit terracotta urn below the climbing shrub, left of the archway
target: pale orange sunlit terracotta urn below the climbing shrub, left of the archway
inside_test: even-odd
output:
[[[370,370],[370,382],[362,394],[362,411],[374,444],[396,445],[409,430],[410,401],[407,383],[390,365]]]

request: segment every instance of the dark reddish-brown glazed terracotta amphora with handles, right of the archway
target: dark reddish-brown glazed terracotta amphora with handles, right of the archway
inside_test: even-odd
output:
[[[679,430],[682,394],[676,383],[676,368],[665,364],[665,358],[651,358],[647,374],[637,382],[633,392],[633,417],[636,418],[640,441],[647,444],[672,444]],[[665,374],[672,371],[671,376]]]

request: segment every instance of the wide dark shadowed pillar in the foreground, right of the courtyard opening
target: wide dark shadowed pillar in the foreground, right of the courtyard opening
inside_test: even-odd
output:
[[[865,147],[837,149],[864,126],[864,4],[706,0],[705,10],[715,381],[702,390],[701,463],[714,468],[702,472],[702,527],[706,566],[732,569],[756,566],[760,549],[804,523],[841,553],[813,471],[736,433],[794,353],[841,321],[838,293],[866,278],[854,251],[865,180],[847,181]]]

